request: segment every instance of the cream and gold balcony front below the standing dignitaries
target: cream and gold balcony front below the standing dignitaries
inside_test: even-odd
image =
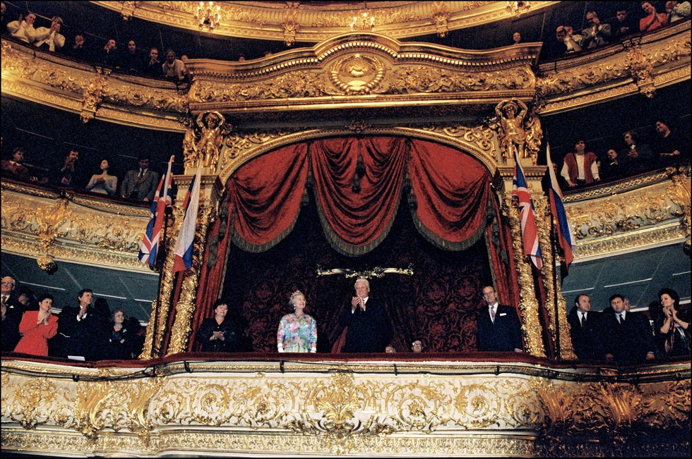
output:
[[[600,457],[628,455],[621,434],[644,435],[653,456],[688,446],[688,361],[639,371],[546,360],[335,360],[324,373],[314,363],[100,369],[4,358],[3,449]]]

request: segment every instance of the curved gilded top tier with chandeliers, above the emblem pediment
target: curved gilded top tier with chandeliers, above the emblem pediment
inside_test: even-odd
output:
[[[139,18],[181,27],[214,37],[318,43],[350,31],[353,17],[367,10],[375,30],[394,38],[437,34],[512,20],[504,1],[217,1],[221,21],[214,30],[201,30],[195,20],[198,1],[93,1],[121,13],[124,19]],[[532,1],[531,11],[556,1]]]

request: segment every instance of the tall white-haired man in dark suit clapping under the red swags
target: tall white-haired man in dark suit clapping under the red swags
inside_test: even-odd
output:
[[[370,297],[367,279],[358,279],[354,289],[356,295],[339,317],[339,324],[347,327],[342,352],[381,353],[393,337],[384,302]]]

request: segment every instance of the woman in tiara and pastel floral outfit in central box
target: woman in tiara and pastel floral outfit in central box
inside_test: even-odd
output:
[[[280,353],[316,353],[317,322],[305,314],[305,295],[300,290],[291,294],[288,304],[294,312],[286,314],[276,332],[276,348]]]

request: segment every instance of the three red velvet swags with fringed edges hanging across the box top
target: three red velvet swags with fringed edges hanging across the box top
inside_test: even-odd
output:
[[[277,149],[229,178],[236,245],[262,252],[290,233],[309,167],[324,233],[345,255],[369,252],[386,237],[406,176],[414,223],[439,247],[475,243],[492,212],[489,172],[458,149],[403,137],[326,138]]]

